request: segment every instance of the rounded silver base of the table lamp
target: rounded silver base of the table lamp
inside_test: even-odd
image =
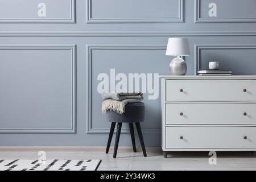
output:
[[[170,63],[170,72],[171,75],[185,75],[187,72],[186,62],[180,57],[175,57]]]

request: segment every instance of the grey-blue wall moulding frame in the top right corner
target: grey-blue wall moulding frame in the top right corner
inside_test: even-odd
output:
[[[254,18],[200,18],[200,1],[195,1],[195,23],[256,23],[256,17]],[[234,2],[236,3],[236,2]]]

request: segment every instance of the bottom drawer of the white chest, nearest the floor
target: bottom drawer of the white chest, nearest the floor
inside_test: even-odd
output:
[[[256,127],[166,127],[166,148],[256,148]]]

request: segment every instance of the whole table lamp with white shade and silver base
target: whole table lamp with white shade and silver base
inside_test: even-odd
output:
[[[171,75],[185,75],[187,72],[187,64],[181,56],[190,56],[187,38],[169,38],[167,56],[177,56],[170,63]]]

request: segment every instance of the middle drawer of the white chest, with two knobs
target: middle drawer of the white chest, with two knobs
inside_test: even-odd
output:
[[[166,125],[256,125],[256,104],[168,103]]]

